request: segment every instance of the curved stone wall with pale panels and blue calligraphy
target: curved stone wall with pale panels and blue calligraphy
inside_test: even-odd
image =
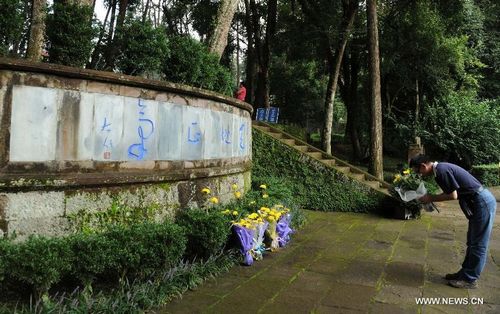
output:
[[[161,215],[250,187],[252,108],[216,93],[0,58],[0,233],[58,235],[120,201]],[[160,217],[161,218],[161,217]]]

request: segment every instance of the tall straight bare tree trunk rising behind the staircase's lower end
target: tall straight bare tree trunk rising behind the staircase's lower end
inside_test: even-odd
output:
[[[370,103],[371,103],[371,144],[370,144],[370,172],[379,179],[383,179],[382,156],[382,99],[380,95],[380,59],[378,43],[377,1],[367,1],[368,27],[368,54],[370,76]]]

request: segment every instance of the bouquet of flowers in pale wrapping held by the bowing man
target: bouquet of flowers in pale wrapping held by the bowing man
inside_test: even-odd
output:
[[[404,202],[411,202],[413,200],[418,200],[425,194],[427,194],[427,189],[425,184],[418,174],[413,172],[411,169],[406,169],[402,174],[396,174],[394,176],[394,189],[399,194],[399,197]],[[431,212],[437,209],[434,203],[429,203],[423,205],[425,211]]]

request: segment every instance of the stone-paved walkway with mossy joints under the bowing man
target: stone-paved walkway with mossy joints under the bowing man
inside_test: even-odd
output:
[[[459,269],[467,220],[457,202],[438,206],[441,214],[411,221],[309,212],[288,247],[234,267],[159,313],[500,313],[499,218],[479,288],[456,289],[442,276]],[[417,305],[417,297],[484,304]]]

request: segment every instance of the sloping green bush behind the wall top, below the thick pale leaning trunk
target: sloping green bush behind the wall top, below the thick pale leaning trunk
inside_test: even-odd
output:
[[[200,42],[184,36],[170,39],[171,53],[163,63],[168,81],[200,87],[231,95],[233,82],[229,70],[219,64],[217,56]]]

